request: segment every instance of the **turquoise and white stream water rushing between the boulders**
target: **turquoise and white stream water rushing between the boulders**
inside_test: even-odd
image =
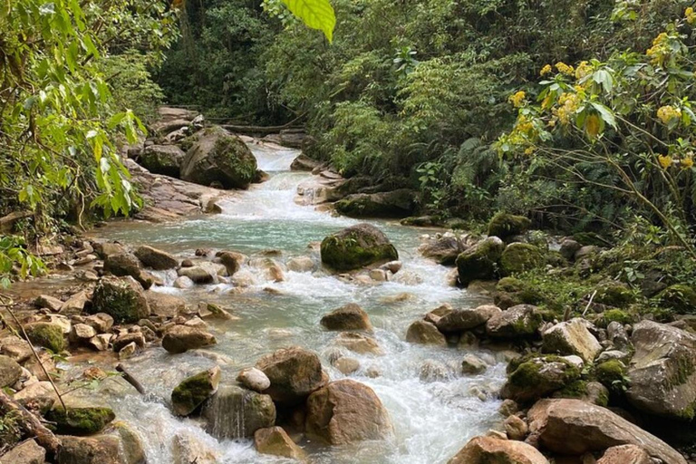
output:
[[[318,263],[312,242],[358,221],[333,217],[313,206],[295,202],[298,186],[311,174],[290,171],[297,150],[268,149],[251,144],[259,169],[270,174],[255,185],[226,200],[222,214],[171,224],[124,223],[108,227],[102,237],[133,245],[160,247],[181,257],[193,256],[199,247],[236,250],[250,256],[267,249],[280,250],[276,261],[293,256],[311,256]],[[347,303],[360,304],[370,314],[374,337],[382,355],[348,355],[361,362],[350,378],[376,392],[389,411],[393,436],[379,442],[362,442],[342,447],[320,447],[303,441],[310,451],[308,462],[328,463],[411,463],[447,462],[469,438],[490,429],[500,417],[496,398],[505,377],[505,364],[492,353],[474,352],[491,367],[479,375],[462,375],[460,362],[467,350],[455,347],[428,347],[406,343],[411,322],[443,303],[473,307],[485,303],[480,296],[447,284],[448,268],[423,259],[416,252],[422,229],[402,227],[387,221],[371,221],[382,228],[397,247],[403,267],[390,282],[360,285],[323,271],[285,271],[284,282],[266,280],[261,269],[243,266],[253,284],[239,293],[233,285],[197,286],[179,290],[171,286],[156,291],[179,295],[191,303],[209,301],[231,308],[237,321],[214,324],[218,344],[208,350],[171,355],[161,348],[150,349],[126,362],[149,394],[140,397],[121,380],[104,382],[100,401],[114,408],[120,420],[137,430],[145,444],[150,464],[175,462],[176,449],[188,446],[201,456],[220,463],[285,462],[256,453],[251,440],[219,442],[209,436],[196,420],[173,416],[166,405],[171,390],[185,377],[215,365],[220,360],[221,383],[234,382],[239,369],[275,349],[300,345],[322,357],[332,380],[345,377],[328,361],[337,349],[337,333],[319,324],[323,314]],[[166,282],[176,275],[161,273]],[[93,361],[92,361],[93,363]],[[97,362],[98,363],[98,362]],[[445,375],[424,378],[424,365],[444,366]],[[72,362],[69,369],[84,368]],[[375,376],[375,372],[379,375]],[[93,395],[80,393],[77,395]],[[93,396],[92,396],[93,398]],[[198,462],[201,462],[199,460]]]

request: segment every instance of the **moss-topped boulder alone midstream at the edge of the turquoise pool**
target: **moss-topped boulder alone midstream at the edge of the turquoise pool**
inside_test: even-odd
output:
[[[370,224],[344,228],[325,237],[321,254],[322,263],[338,271],[350,271],[399,259],[389,238]]]

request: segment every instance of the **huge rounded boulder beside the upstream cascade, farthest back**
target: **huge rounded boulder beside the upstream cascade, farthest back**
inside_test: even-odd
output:
[[[181,179],[195,184],[247,189],[256,179],[256,158],[237,136],[221,128],[201,132],[181,164]]]

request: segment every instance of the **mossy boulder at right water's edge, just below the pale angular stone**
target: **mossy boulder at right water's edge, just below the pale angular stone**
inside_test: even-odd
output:
[[[580,369],[560,356],[527,357],[508,366],[501,396],[518,402],[536,401],[580,379]]]

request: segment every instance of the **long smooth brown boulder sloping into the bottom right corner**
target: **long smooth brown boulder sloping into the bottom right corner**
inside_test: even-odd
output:
[[[667,443],[635,424],[604,409],[580,400],[541,400],[527,413],[530,436],[559,453],[582,455],[619,445],[637,445],[655,459],[670,464],[687,464]]]

